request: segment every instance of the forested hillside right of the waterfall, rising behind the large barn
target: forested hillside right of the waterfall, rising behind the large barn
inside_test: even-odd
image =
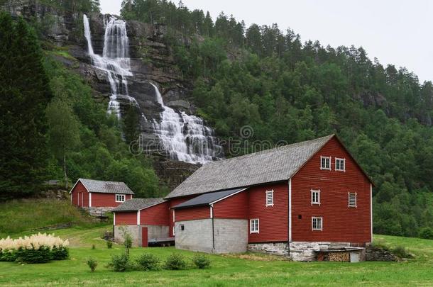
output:
[[[176,65],[219,137],[242,140],[243,125],[254,130],[249,141],[337,133],[376,183],[374,232],[415,236],[433,227],[431,81],[383,67],[362,47],[303,43],[277,24],[246,27],[222,12],[213,21],[182,2],[125,0],[121,15],[168,26]]]

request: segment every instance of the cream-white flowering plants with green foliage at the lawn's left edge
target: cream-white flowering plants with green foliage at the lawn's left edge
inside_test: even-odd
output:
[[[69,241],[46,233],[0,240],[0,261],[44,263],[69,257]]]

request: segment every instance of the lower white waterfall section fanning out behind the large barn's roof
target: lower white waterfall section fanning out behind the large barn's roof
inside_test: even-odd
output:
[[[160,123],[153,122],[155,133],[163,144],[163,150],[170,153],[171,159],[182,162],[212,162],[221,153],[214,131],[204,125],[197,116],[189,116],[185,112],[177,113],[165,106],[163,97],[155,84],[156,101],[163,107]]]

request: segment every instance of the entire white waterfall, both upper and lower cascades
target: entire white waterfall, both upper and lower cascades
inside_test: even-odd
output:
[[[94,53],[89,19],[83,16],[84,36],[87,40],[87,50],[94,67],[106,72],[111,87],[109,113],[121,117],[121,105],[135,104],[136,99],[128,94],[128,81],[132,77],[129,58],[129,40],[126,33],[126,22],[111,16],[104,18],[105,34],[102,56]],[[150,83],[152,84],[152,83]],[[189,116],[184,112],[177,112],[165,106],[163,97],[155,84],[156,101],[162,106],[160,122],[148,121],[142,113],[142,118],[152,124],[153,133],[158,136],[162,150],[170,154],[171,159],[190,163],[211,162],[221,157],[221,146],[217,144],[214,131],[204,125],[203,120],[196,116]]]

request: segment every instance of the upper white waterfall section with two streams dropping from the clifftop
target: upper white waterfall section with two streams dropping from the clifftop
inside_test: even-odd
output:
[[[114,113],[121,117],[120,102],[137,105],[136,99],[128,94],[128,80],[131,77],[130,59],[128,55],[129,40],[126,34],[126,22],[113,16],[105,20],[104,50],[102,56],[97,55],[92,47],[92,34],[90,32],[89,19],[84,14],[84,36],[87,40],[87,50],[92,59],[92,64],[106,72],[111,96],[108,113]]]

